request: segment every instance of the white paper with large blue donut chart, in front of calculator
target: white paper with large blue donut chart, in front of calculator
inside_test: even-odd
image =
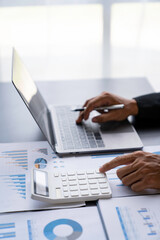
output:
[[[88,221],[88,216],[90,220]],[[96,226],[93,227],[93,226]],[[96,206],[0,215],[0,239],[105,240]]]

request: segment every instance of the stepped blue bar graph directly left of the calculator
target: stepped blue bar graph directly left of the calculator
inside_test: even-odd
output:
[[[12,174],[1,175],[0,180],[7,185],[15,194],[20,198],[26,199],[26,175],[25,174]]]

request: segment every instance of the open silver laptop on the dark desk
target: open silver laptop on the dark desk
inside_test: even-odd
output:
[[[71,110],[72,106],[47,106],[15,49],[12,82],[58,154],[136,150],[143,146],[128,120],[99,125],[89,119],[77,125],[78,113]]]

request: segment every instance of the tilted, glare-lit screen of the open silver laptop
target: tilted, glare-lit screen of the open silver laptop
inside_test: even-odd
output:
[[[12,61],[12,82],[41,131],[52,146],[47,104],[15,49],[13,49]]]

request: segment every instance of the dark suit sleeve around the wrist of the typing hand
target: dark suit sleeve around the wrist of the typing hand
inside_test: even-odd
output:
[[[160,121],[160,93],[151,93],[134,99],[139,109],[136,120]]]

